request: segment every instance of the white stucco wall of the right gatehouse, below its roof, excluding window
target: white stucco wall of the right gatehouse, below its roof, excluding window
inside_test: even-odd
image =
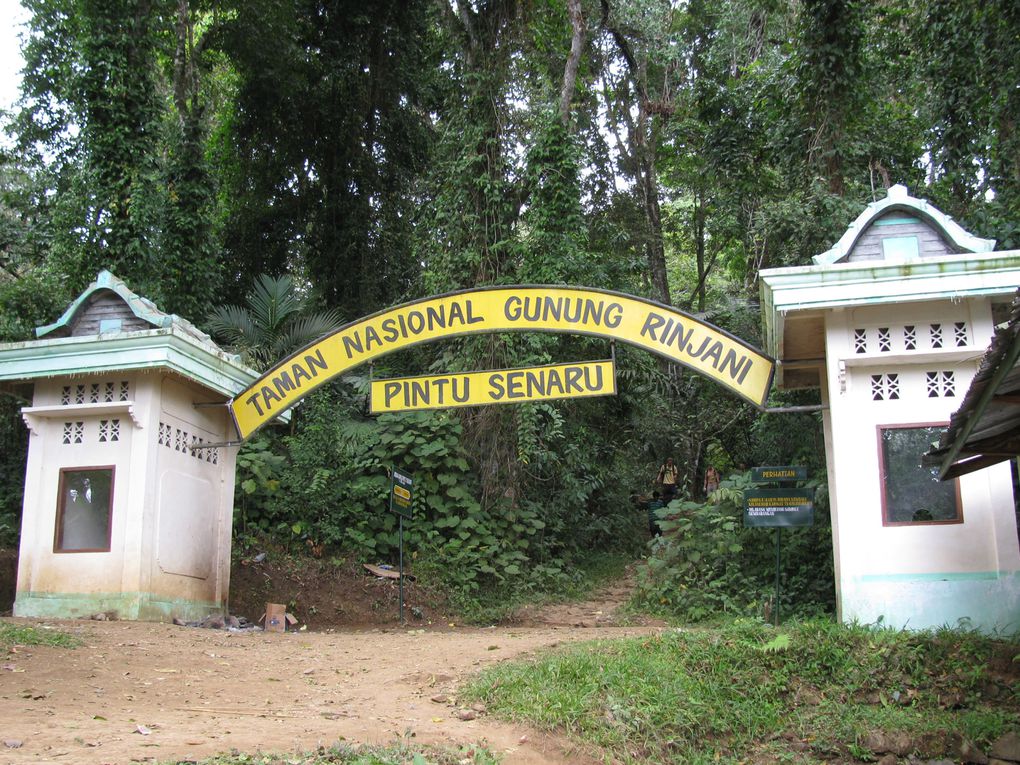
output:
[[[942,348],[931,347],[932,324],[941,328]],[[864,353],[855,344],[860,329],[866,334]],[[888,330],[888,351],[878,349],[879,329]],[[910,334],[916,347],[908,350],[904,338]],[[1020,628],[1020,548],[1008,463],[960,479],[962,523],[890,526],[882,521],[879,425],[948,423],[991,334],[984,298],[827,314],[826,445],[844,620]],[[931,371],[952,372],[955,395],[929,396]],[[898,376],[899,398],[876,401],[872,375],[888,374]]]

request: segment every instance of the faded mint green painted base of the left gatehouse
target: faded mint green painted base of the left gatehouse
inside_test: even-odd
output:
[[[14,616],[74,619],[116,613],[125,621],[197,621],[222,614],[223,604],[206,601],[160,600],[150,593],[18,593]]]

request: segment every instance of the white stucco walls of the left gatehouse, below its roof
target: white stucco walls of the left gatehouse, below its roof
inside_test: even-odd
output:
[[[107,382],[112,404],[62,401],[64,387],[73,399],[79,385],[88,396],[93,384],[105,391]],[[225,610],[237,450],[187,449],[194,439],[230,439],[224,408],[193,406],[215,398],[159,369],[37,381],[26,410],[32,432],[15,615],[192,619]],[[100,442],[100,421],[113,419],[117,440]],[[63,443],[67,422],[83,423],[81,443]],[[61,468],[99,466],[114,468],[109,551],[56,551]]]

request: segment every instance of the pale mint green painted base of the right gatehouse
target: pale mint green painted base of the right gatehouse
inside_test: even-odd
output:
[[[847,622],[1020,633],[1020,571],[860,576],[842,591]]]

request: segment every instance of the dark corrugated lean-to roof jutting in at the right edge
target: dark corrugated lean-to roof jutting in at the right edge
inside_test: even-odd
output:
[[[1013,298],[1009,319],[996,328],[963,403],[925,461],[939,465],[939,475],[947,480],[1018,455],[1020,290]]]

